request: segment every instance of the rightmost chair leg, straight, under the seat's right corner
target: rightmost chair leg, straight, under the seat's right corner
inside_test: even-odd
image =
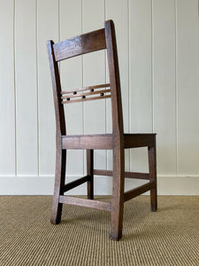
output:
[[[150,208],[152,212],[157,211],[157,154],[156,142],[153,147],[148,147],[149,154],[149,181],[155,182],[155,187],[150,190]]]

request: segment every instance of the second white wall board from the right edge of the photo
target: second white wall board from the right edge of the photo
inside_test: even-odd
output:
[[[175,1],[153,1],[154,131],[157,171],[176,173]]]

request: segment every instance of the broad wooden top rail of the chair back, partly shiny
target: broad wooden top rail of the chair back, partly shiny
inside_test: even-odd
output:
[[[80,54],[106,49],[104,28],[67,39],[53,45],[56,61],[70,59]]]

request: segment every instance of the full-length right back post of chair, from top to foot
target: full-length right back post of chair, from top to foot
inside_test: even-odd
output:
[[[111,239],[120,239],[122,236],[123,208],[124,208],[124,180],[125,180],[125,153],[124,129],[119,80],[119,61],[112,20],[105,22],[105,35],[109,75],[111,83],[112,107],[112,140],[113,140],[113,180],[112,180],[112,211],[111,211]]]

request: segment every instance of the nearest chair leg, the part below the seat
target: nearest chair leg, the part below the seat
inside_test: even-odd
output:
[[[110,238],[119,240],[122,237],[124,211],[124,149],[113,149],[113,177],[111,200],[111,234]]]

